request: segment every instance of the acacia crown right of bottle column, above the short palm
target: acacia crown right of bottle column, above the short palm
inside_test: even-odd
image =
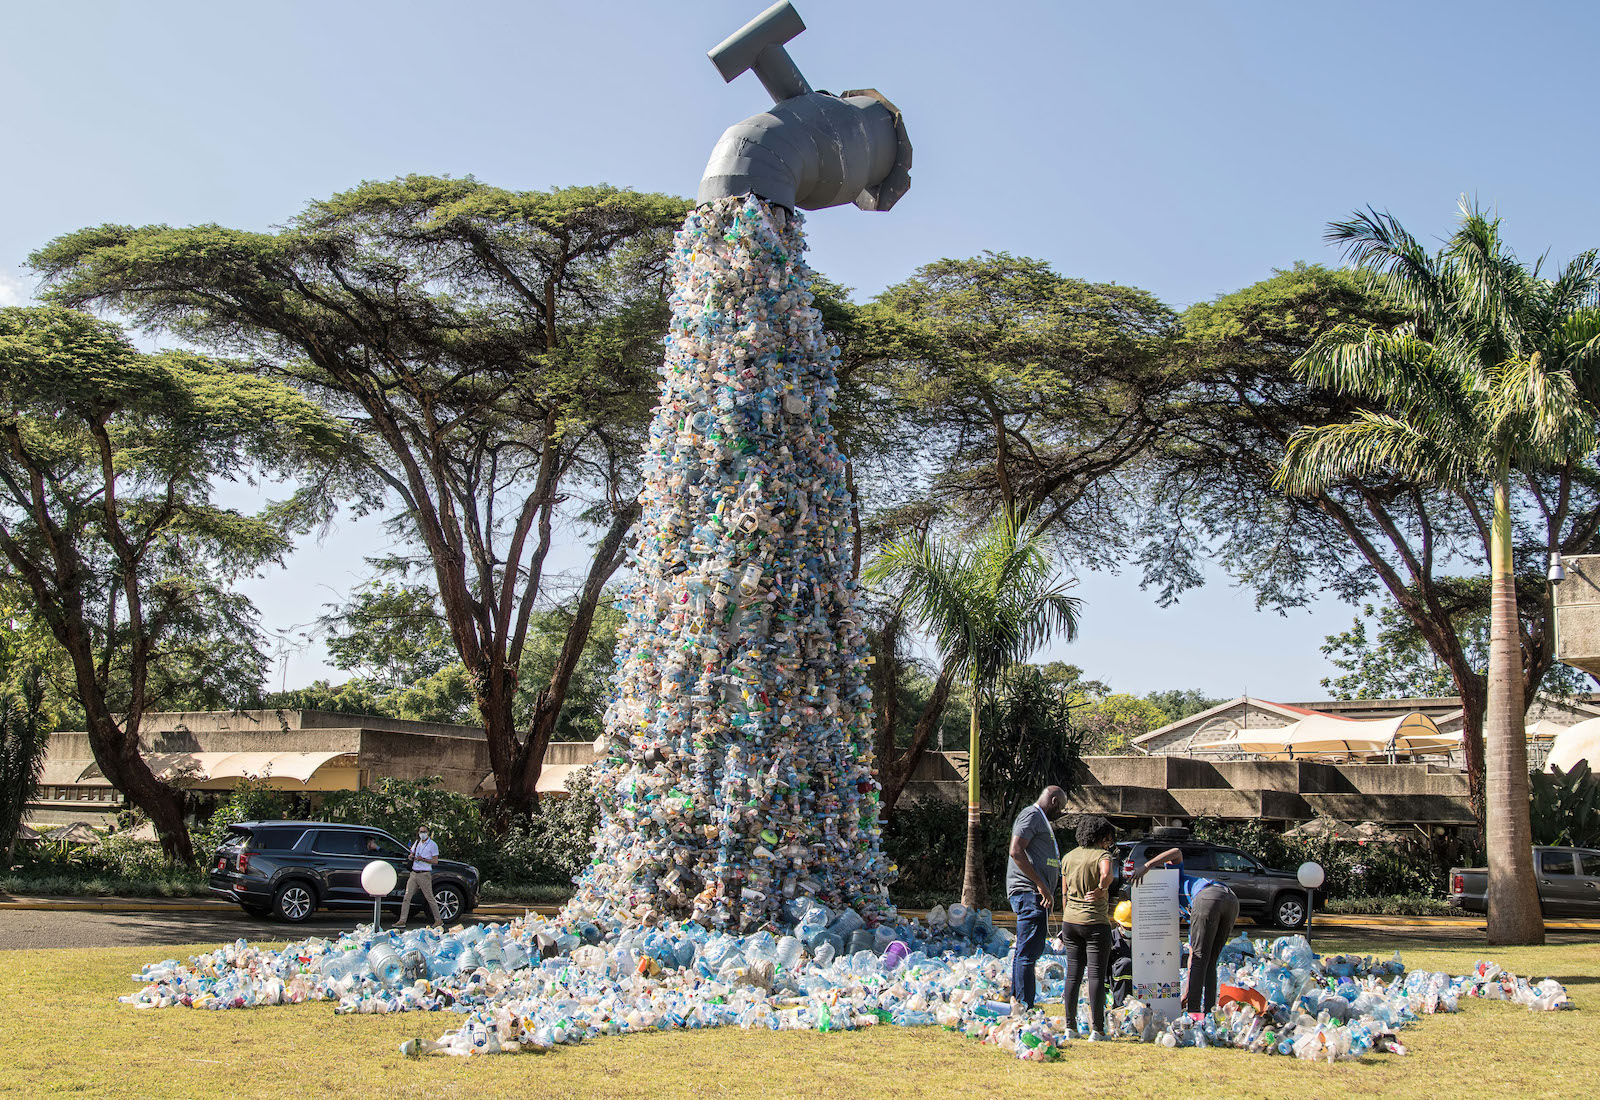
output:
[[[1083,566],[1122,545],[1118,473],[1157,443],[1182,374],[1150,294],[1037,259],[941,259],[862,310],[870,385],[918,430],[915,480],[962,520],[1032,515]],[[898,476],[912,473],[904,452]],[[1070,520],[1070,521],[1069,521]]]

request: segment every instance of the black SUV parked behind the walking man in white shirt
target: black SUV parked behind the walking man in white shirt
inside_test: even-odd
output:
[[[235,900],[251,916],[269,913],[294,924],[328,908],[370,908],[362,868],[392,863],[398,881],[384,899],[400,908],[411,873],[410,849],[381,828],[336,822],[240,822],[211,857],[211,892]],[[442,859],[434,863],[438,919],[453,921],[478,903],[478,868]],[[413,899],[427,919],[427,907]]]

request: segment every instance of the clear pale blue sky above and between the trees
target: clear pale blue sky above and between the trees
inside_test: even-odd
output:
[[[278,224],[362,179],[474,174],[693,193],[717,134],[766,104],[706,50],[763,0],[13,5],[0,34],[0,304],[27,253],[99,222]],[[1008,249],[1182,307],[1389,208],[1450,227],[1496,206],[1526,256],[1600,245],[1581,3],[797,0],[818,88],[875,86],[917,147],[890,214],[811,216],[813,262],[870,294],[939,256]],[[362,577],[373,523],[251,587],[306,622]],[[1085,577],[1058,656],[1118,689],[1310,699],[1350,609],[1256,614],[1222,584],[1162,611]],[[286,670],[318,673],[312,648]]]

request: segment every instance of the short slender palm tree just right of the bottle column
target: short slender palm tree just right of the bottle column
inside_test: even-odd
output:
[[[1072,582],[1053,572],[1038,524],[1011,508],[971,539],[914,536],[890,542],[866,572],[869,584],[901,590],[906,609],[971,688],[965,905],[982,905],[987,895],[978,801],[979,713],[1008,668],[1058,633],[1070,641],[1078,632],[1080,601],[1066,593]]]

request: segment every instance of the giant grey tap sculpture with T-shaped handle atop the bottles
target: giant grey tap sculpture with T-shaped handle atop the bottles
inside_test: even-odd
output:
[[[774,107],[723,133],[701,177],[699,203],[754,193],[789,209],[888,209],[910,189],[910,139],[899,110],[874,88],[813,91],[784,50],[802,30],[800,13],[779,0],[710,51],[723,80],[754,72]]]

